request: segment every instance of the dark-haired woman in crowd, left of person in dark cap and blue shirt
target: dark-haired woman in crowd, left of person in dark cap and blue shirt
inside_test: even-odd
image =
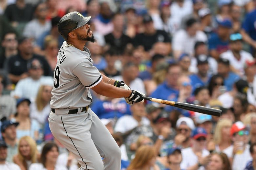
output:
[[[209,93],[211,99],[217,99],[221,94],[226,92],[226,87],[224,86],[224,78],[221,75],[214,75],[211,77],[209,82]]]

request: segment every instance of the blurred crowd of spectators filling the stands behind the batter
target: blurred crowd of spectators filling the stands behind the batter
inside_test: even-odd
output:
[[[92,16],[96,42],[86,47],[102,74],[222,110],[130,106],[92,92],[121,170],[256,170],[256,0],[0,0],[0,169],[80,167],[48,124],[57,24],[72,11]]]

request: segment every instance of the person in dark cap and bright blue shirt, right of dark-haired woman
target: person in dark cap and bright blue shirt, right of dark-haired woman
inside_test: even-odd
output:
[[[224,58],[218,60],[218,74],[224,77],[227,91],[231,91],[233,84],[239,79],[239,76],[231,71],[229,60]]]

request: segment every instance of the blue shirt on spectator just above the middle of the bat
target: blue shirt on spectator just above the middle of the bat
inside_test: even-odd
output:
[[[157,86],[157,89],[151,94],[150,97],[173,101],[178,97],[178,95],[178,90],[167,86],[167,83],[164,82]]]

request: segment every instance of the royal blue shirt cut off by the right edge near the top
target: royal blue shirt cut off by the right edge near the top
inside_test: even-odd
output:
[[[253,40],[256,40],[256,9],[245,16],[242,28]]]

